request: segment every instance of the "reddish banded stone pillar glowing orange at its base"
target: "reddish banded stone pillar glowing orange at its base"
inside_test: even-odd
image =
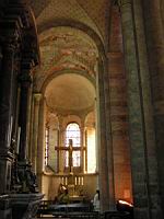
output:
[[[119,8],[113,1],[109,19],[108,76],[114,153],[115,198],[132,201],[128,134],[127,82]]]

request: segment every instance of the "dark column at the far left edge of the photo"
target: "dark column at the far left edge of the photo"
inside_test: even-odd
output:
[[[0,72],[0,194],[10,191],[11,180],[12,154],[10,147],[13,126],[14,49],[12,41],[4,44]]]

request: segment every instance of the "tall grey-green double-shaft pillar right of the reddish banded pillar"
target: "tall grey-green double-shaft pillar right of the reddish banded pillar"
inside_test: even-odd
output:
[[[119,3],[128,81],[134,218],[162,218],[141,2],[120,0]]]

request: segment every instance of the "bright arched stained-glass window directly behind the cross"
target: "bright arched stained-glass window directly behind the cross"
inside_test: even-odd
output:
[[[77,123],[70,123],[66,128],[66,147],[69,147],[70,139],[72,140],[72,165],[80,166],[80,150],[81,147],[81,135],[80,127]],[[66,166],[69,166],[69,152],[66,152]]]

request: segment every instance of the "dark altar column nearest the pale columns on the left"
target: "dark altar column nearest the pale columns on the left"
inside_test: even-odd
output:
[[[27,126],[28,126],[28,106],[30,106],[30,88],[32,83],[31,79],[31,62],[23,61],[21,74],[19,76],[19,81],[21,84],[21,99],[20,99],[20,115],[19,115],[19,126],[21,127],[20,136],[20,150],[19,160],[24,161],[26,159],[26,150],[28,147],[27,137]]]

